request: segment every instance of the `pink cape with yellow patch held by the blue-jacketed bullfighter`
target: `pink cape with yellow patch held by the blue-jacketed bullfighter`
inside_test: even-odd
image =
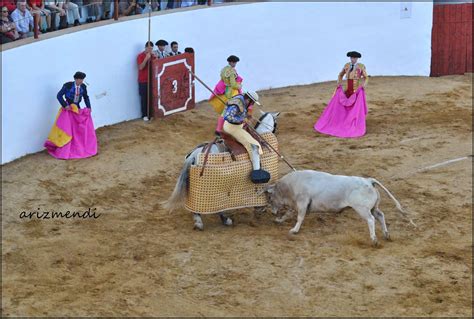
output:
[[[97,137],[91,110],[86,108],[75,111],[60,108],[44,143],[48,153],[55,158],[85,158],[97,154]]]

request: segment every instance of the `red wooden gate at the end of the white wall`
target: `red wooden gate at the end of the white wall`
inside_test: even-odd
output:
[[[472,72],[472,3],[435,4],[431,76]]]

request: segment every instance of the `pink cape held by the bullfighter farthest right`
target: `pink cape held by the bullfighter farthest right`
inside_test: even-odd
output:
[[[364,88],[360,87],[347,98],[342,86],[339,86],[323,114],[314,124],[314,129],[337,137],[360,137],[365,134],[366,115]]]

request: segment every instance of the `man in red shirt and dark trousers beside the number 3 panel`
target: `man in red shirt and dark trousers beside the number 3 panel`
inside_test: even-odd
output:
[[[151,41],[145,43],[145,50],[137,56],[138,93],[140,94],[142,118],[145,122],[149,120],[148,115],[149,112],[151,112],[151,110],[148,110],[148,98],[151,102],[151,90],[148,91],[148,78],[151,78],[151,74],[149,74],[151,71],[149,62],[156,58],[153,52],[153,42]]]

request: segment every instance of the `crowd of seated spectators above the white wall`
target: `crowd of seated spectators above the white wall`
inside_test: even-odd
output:
[[[150,11],[205,5],[207,2],[207,0],[120,0],[118,13],[119,17],[130,16]],[[36,22],[40,34],[107,20],[114,16],[113,0],[1,0],[1,7],[1,44],[33,36],[35,14],[40,17]]]

